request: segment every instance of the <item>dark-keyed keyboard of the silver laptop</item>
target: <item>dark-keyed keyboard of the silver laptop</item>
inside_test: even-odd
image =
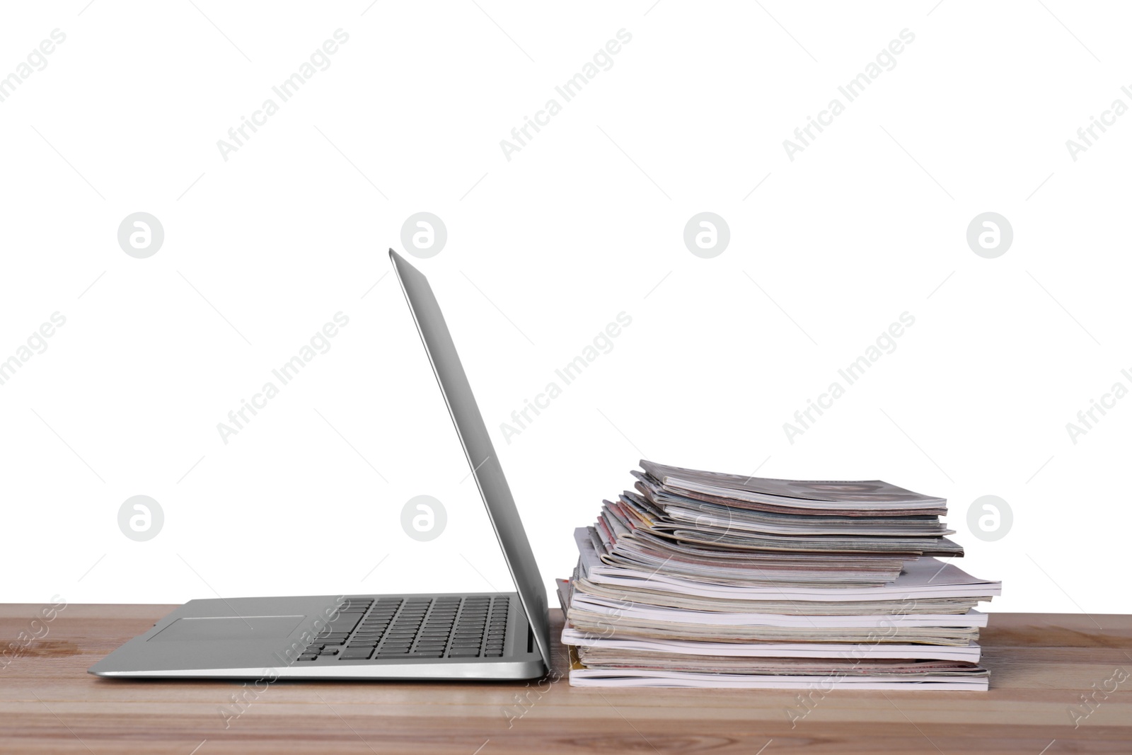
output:
[[[299,661],[503,658],[507,595],[350,598]]]

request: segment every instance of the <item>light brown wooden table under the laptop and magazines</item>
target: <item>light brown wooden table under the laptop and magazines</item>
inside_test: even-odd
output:
[[[28,633],[41,608],[0,606],[0,646]],[[993,614],[983,633],[990,692],[833,692],[791,726],[787,711],[805,709],[788,692],[599,690],[549,678],[256,690],[86,672],[172,608],[67,606],[36,624],[42,638],[0,669],[0,753],[1132,753],[1132,616]],[[560,612],[552,618],[560,626]],[[555,653],[560,675],[557,643]],[[1081,695],[1097,689],[1090,712]],[[1072,710],[1088,713],[1077,728]]]

